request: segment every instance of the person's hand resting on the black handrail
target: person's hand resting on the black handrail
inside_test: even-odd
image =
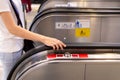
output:
[[[51,37],[44,37],[44,40],[42,41],[45,45],[53,47],[53,49],[63,49],[63,47],[66,47],[66,45],[56,39],[56,38],[51,38]]]

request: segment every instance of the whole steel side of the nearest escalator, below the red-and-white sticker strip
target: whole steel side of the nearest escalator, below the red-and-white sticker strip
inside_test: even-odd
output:
[[[109,78],[118,80],[120,78],[119,53],[103,53],[99,49],[93,49],[93,52],[101,53],[88,54],[88,58],[67,56],[47,58],[48,52],[53,53],[52,50],[43,51],[22,61],[15,69],[11,80],[108,80]]]

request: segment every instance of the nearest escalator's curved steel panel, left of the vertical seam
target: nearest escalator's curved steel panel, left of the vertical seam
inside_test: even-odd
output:
[[[48,62],[27,70],[17,80],[84,80],[85,64],[77,62]]]

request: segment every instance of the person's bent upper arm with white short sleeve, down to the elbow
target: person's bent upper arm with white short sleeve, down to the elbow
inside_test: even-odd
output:
[[[3,23],[9,31],[12,29],[11,26],[15,26],[10,10],[9,0],[0,1],[0,18],[2,19],[1,23]]]

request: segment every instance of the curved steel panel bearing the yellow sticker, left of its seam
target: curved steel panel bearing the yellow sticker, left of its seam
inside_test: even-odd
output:
[[[76,28],[65,27],[65,25],[75,25],[76,21],[86,21],[89,24],[90,35],[88,37],[76,36]],[[57,28],[56,24],[63,24],[63,27]],[[65,24],[65,25],[64,25]],[[38,19],[32,26],[33,32],[43,34],[50,37],[55,37],[65,43],[80,43],[80,42],[99,42],[101,35],[101,17],[100,16],[85,16],[85,15],[49,15]],[[40,44],[40,43],[37,43]]]

